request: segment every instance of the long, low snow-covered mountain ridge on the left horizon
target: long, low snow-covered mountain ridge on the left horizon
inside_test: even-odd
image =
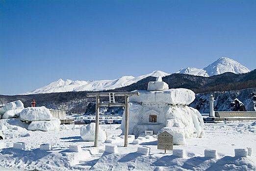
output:
[[[37,88],[32,92],[26,92],[25,94],[38,94],[38,93],[53,93],[53,92],[67,92],[67,91],[101,91],[108,89],[115,89],[142,80],[143,78],[152,76],[152,77],[164,77],[170,74],[167,74],[163,71],[153,71],[146,75],[141,75],[138,77],[133,76],[123,76],[115,80],[99,80],[99,81],[72,81],[72,80],[62,80],[59,79],[55,82],[52,82],[49,85]]]

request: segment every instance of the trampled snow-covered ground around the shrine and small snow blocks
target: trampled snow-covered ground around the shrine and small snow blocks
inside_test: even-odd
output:
[[[96,171],[215,171],[215,170],[256,170],[256,125],[253,122],[205,124],[204,138],[191,138],[185,146],[174,146],[174,149],[186,150],[186,158],[172,155],[171,150],[157,150],[157,141],[140,138],[140,144],[128,144],[124,148],[121,137],[115,137],[112,145],[118,145],[118,153],[104,152],[105,145],[99,142],[95,148],[94,142],[84,142],[79,133],[81,125],[67,125],[68,130],[53,132],[29,131],[14,126],[3,130],[5,135],[4,148],[0,150],[0,170],[96,170]],[[100,125],[110,134],[119,136],[120,125]],[[26,142],[25,150],[13,149],[13,143]],[[110,141],[108,141],[110,142]],[[40,150],[40,145],[49,143],[51,151]],[[82,151],[71,152],[69,145],[81,145]],[[149,147],[150,155],[137,153],[138,147]],[[253,155],[234,157],[234,149],[253,149]],[[215,149],[217,159],[204,156],[205,149]]]

